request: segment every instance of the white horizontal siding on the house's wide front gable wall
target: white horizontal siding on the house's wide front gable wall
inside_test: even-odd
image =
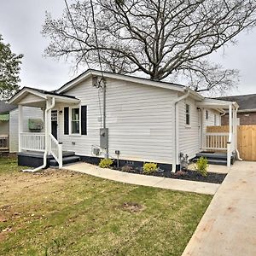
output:
[[[90,156],[91,146],[99,145],[102,94],[87,79],[67,95],[76,96],[80,105],[87,106],[87,135],[63,135],[63,114],[59,115],[58,140],[64,150]],[[109,129],[109,156],[122,160],[143,160],[173,163],[174,100],[177,92],[162,88],[107,79],[107,127]],[[63,110],[59,106],[59,110]],[[102,155],[101,155],[102,157]]]

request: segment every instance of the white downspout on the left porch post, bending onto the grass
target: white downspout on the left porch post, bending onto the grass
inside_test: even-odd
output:
[[[49,110],[51,110],[52,108],[55,107],[55,98],[53,97],[51,99],[52,99],[51,105],[48,108],[46,108],[45,111],[44,111],[45,149],[44,149],[44,163],[43,163],[43,166],[39,166],[39,167],[37,167],[35,169],[32,169],[32,170],[22,170],[22,172],[39,172],[47,166],[47,154],[48,154],[48,150],[49,150],[49,136],[48,136],[49,116],[48,116],[48,113],[49,113]],[[46,106],[47,106],[47,102],[46,102]]]

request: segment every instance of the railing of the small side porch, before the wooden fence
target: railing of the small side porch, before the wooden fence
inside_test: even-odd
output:
[[[205,140],[205,148],[208,150],[227,150],[227,143],[229,142],[229,133],[207,132]]]

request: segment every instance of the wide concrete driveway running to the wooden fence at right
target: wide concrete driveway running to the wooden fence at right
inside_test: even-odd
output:
[[[236,161],[183,256],[256,255],[256,162]]]

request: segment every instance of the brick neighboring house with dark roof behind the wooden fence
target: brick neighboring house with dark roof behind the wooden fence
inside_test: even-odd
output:
[[[238,103],[238,125],[256,125],[256,94],[224,96],[218,99]],[[229,125],[229,113],[225,113],[224,116],[222,116],[221,124]]]

